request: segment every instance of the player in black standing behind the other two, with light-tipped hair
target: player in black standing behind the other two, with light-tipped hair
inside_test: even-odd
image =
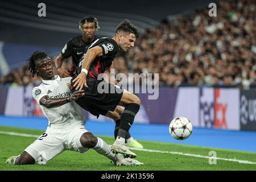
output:
[[[76,68],[84,55],[84,51],[89,44],[93,43],[98,39],[95,36],[96,31],[100,28],[97,18],[92,16],[82,18],[79,22],[79,29],[82,31],[82,35],[76,36],[75,38],[70,39],[62,49],[59,56],[56,59],[56,68],[60,77],[70,77],[77,76]],[[61,68],[63,61],[72,56],[73,67],[70,71],[67,69]],[[118,107],[117,110],[110,118],[115,121],[115,130],[114,136],[117,138],[117,133],[120,127],[120,115],[122,114],[123,108]],[[127,134],[127,145],[130,147],[143,148],[142,144],[137,142],[130,133]]]

